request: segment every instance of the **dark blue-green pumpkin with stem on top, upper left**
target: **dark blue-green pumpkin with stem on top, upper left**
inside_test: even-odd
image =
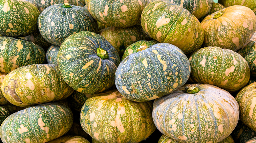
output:
[[[39,15],[38,29],[45,40],[60,46],[67,37],[77,32],[98,32],[97,23],[87,9],[74,5],[63,8],[63,5],[52,5]]]

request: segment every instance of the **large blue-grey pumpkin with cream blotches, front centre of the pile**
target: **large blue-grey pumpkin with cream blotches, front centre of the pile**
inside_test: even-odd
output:
[[[132,101],[149,101],[171,93],[186,83],[190,64],[176,46],[158,43],[127,56],[118,66],[118,91]]]

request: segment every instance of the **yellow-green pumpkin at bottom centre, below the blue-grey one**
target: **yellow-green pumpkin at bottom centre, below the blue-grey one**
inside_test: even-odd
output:
[[[156,129],[152,102],[127,100],[117,90],[88,98],[81,109],[80,123],[85,132],[103,143],[138,143]]]

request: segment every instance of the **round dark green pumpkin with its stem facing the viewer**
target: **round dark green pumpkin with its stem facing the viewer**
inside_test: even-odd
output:
[[[83,31],[69,36],[60,46],[58,66],[65,82],[78,92],[102,92],[115,83],[120,57],[102,36]]]

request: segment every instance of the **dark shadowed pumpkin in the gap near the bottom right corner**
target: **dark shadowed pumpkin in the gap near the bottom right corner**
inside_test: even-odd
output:
[[[231,135],[236,143],[245,143],[247,140],[256,137],[256,131],[239,120]]]

